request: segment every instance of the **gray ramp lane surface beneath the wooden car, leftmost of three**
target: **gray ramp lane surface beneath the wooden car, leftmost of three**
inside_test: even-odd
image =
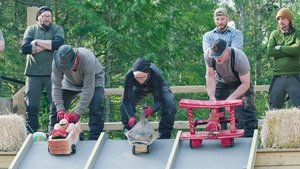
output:
[[[76,153],[54,156],[48,153],[48,142],[34,142],[19,169],[83,169],[96,141],[79,141]]]

